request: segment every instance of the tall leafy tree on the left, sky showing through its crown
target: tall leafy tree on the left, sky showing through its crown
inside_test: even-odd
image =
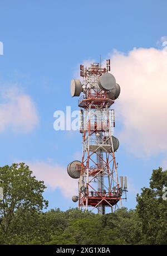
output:
[[[3,200],[0,200],[0,223],[4,234],[7,234],[9,224],[18,214],[26,210],[42,211],[48,206],[42,193],[46,186],[43,181],[37,181],[32,171],[24,163],[12,164],[0,168],[0,180],[3,187]]]

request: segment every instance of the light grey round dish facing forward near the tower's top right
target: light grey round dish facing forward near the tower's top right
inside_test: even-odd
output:
[[[110,73],[104,73],[99,77],[98,85],[101,90],[113,91],[113,93],[115,94],[115,90],[116,90],[115,84],[116,84],[115,77]]]

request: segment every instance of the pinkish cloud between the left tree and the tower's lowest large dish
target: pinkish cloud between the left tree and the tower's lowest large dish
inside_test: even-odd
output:
[[[37,179],[45,182],[51,189],[60,188],[62,195],[71,198],[77,193],[77,179],[72,179],[67,174],[66,167],[44,161],[28,162]]]

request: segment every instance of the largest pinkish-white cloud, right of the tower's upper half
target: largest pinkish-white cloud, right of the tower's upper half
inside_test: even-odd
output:
[[[122,122],[120,143],[139,157],[167,153],[167,55],[140,48],[110,58],[121,87],[114,106]]]

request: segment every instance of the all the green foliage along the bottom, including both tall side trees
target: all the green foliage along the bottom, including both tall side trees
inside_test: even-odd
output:
[[[124,207],[104,216],[77,208],[42,212],[45,185],[23,163],[0,168],[0,175],[0,244],[167,244],[167,202],[162,199],[167,171],[161,168],[153,170],[150,187],[137,195],[135,210]]]

